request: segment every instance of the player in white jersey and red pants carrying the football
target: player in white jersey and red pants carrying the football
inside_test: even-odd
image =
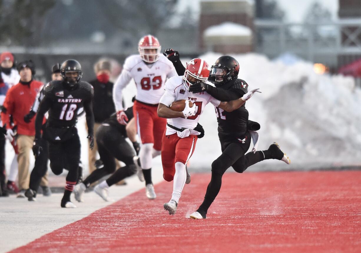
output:
[[[173,77],[166,82],[165,93],[159,101],[158,116],[167,118],[161,151],[163,178],[168,182],[174,180],[171,200],[164,204],[164,209],[171,215],[177,211],[184,184],[191,181],[186,164],[194,152],[198,136],[201,138],[204,135],[198,121],[205,105],[211,102],[214,106],[231,112],[242,106],[258,90],[252,90],[240,99],[229,102],[221,102],[206,92],[189,92],[192,84],[207,82],[208,76],[208,64],[203,59],[191,60],[183,77]],[[169,109],[172,102],[180,99],[186,100],[183,112]],[[189,101],[193,103],[192,107],[189,107]]]

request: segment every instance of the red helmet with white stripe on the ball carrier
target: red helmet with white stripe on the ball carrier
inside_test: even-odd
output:
[[[183,75],[183,85],[189,90],[192,84],[199,81],[206,82],[209,77],[208,63],[200,58],[191,60],[186,67],[186,71]],[[189,80],[189,79],[192,80]]]

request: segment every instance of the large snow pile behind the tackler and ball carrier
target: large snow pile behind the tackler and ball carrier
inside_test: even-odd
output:
[[[219,56],[200,57],[212,65]],[[249,119],[261,124],[259,150],[277,141],[295,165],[360,164],[361,91],[355,89],[352,78],[318,75],[308,62],[287,66],[254,53],[234,57],[240,63],[239,77],[262,91],[246,104]],[[220,154],[219,143],[215,148],[217,122],[212,106],[200,123],[206,135],[197,143],[197,159],[192,159],[199,166],[208,159],[198,157],[206,155],[213,161]]]

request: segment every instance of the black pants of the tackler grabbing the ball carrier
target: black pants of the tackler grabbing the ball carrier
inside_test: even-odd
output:
[[[229,167],[232,166],[236,172],[243,173],[247,167],[263,160],[260,151],[245,154],[251,144],[251,135],[247,132],[245,136],[247,137],[245,143],[237,139],[231,141],[220,139],[222,154],[212,163],[212,178],[208,184],[204,201],[197,210],[200,214],[205,215],[209,206],[216,199],[221,189],[222,176]]]

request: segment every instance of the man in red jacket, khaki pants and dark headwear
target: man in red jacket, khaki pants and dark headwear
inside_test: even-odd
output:
[[[34,119],[30,123],[24,121],[24,116],[30,111],[36,95],[44,85],[42,82],[33,80],[35,66],[32,61],[20,62],[17,66],[20,74],[20,82],[10,88],[6,93],[4,109],[1,112],[1,120],[8,131],[8,135],[14,135],[10,126],[10,115],[14,124],[18,127],[17,146],[19,163],[19,195],[25,197],[25,190],[29,188],[30,181],[30,156],[34,144],[35,124]],[[42,186],[47,186],[47,180],[43,180]]]

